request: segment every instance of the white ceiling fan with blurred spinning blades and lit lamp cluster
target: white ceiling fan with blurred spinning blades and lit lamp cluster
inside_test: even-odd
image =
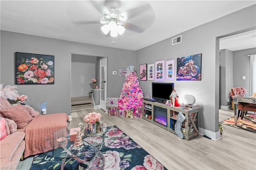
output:
[[[144,0],[72,1],[67,14],[78,28],[96,36],[103,32],[113,39],[122,33],[126,37],[143,33],[155,19],[154,10]],[[116,31],[112,32],[112,27]]]

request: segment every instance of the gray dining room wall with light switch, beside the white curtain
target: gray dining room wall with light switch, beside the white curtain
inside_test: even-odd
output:
[[[233,51],[233,87],[244,87],[250,92],[250,57],[256,54],[256,48]],[[243,80],[242,76],[246,76]]]

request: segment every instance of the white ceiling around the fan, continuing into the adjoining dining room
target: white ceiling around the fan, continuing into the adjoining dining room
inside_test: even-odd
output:
[[[96,1],[99,6],[104,1]],[[178,1],[121,0],[120,12],[127,17],[126,31],[116,38],[105,36],[100,27],[103,14],[88,0],[4,1],[1,0],[1,30],[88,43],[120,49],[138,50],[181,32],[210,22],[242,8],[255,0]],[[129,30],[133,29],[136,32]],[[247,38],[244,38],[247,36]],[[255,30],[242,37],[222,38],[220,49],[231,51],[256,47]],[[250,43],[248,43],[250,39]],[[238,45],[242,43],[243,46]],[[242,42],[243,40],[243,42]],[[245,42],[245,40],[247,40]],[[171,42],[170,42],[171,44]],[[226,44],[226,45],[225,45]],[[234,45],[232,45],[234,44]],[[228,46],[229,45],[229,46]]]

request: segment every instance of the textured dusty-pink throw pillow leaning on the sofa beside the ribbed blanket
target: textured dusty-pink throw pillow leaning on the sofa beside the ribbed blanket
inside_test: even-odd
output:
[[[17,128],[24,128],[33,119],[20,103],[10,109],[1,110],[1,114],[5,118],[13,120],[17,124]]]

